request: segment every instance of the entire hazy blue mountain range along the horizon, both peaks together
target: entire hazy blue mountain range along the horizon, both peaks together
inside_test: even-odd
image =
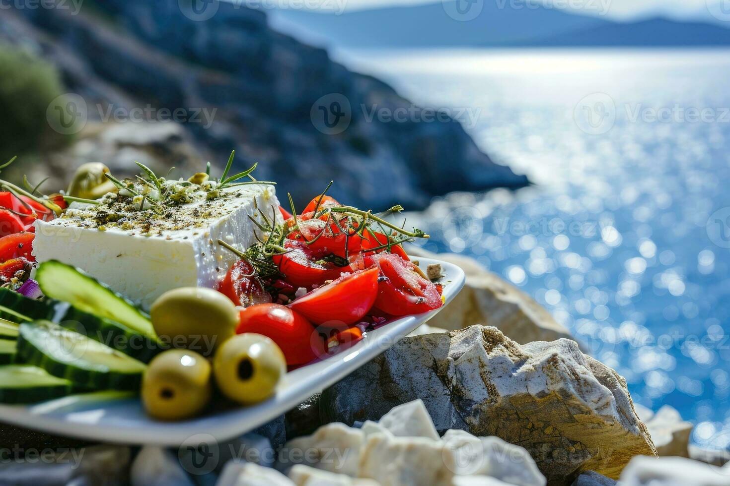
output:
[[[507,0],[485,1],[482,12],[469,21],[450,17],[440,1],[342,15],[287,9],[273,12],[271,23],[307,42],[345,48],[730,45],[730,13],[728,22],[712,17],[715,22],[706,23],[708,13],[692,22],[653,18],[621,23],[569,10],[509,6]]]

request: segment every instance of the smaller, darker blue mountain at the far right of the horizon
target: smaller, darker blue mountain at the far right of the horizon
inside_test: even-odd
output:
[[[523,45],[534,44],[525,42]],[[656,18],[566,32],[539,39],[539,45],[544,47],[726,46],[730,45],[730,28]]]

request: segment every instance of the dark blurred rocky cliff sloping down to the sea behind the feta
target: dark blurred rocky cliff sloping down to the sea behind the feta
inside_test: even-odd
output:
[[[264,12],[240,2],[207,5],[210,18],[177,0],[88,1],[77,15],[8,9],[0,38],[58,66],[91,122],[110,107],[151,107],[152,117],[183,109],[204,156],[220,164],[236,149],[239,168],[259,162],[258,179],[278,181],[300,203],[331,179],[334,197],[376,209],[527,184],[480,152],[456,120],[273,31]],[[372,116],[383,109],[407,116]]]

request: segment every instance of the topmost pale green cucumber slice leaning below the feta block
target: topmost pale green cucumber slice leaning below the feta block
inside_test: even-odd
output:
[[[69,302],[84,312],[124,324],[157,339],[149,316],[127,299],[81,270],[50,260],[39,265],[36,280],[48,297]]]

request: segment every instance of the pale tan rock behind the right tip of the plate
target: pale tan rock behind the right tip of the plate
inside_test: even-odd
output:
[[[499,275],[485,270],[475,259],[456,254],[432,254],[417,246],[410,246],[408,252],[456,264],[466,273],[464,289],[445,310],[429,321],[430,326],[450,331],[475,324],[494,326],[520,344],[562,337],[573,339],[545,307]]]

